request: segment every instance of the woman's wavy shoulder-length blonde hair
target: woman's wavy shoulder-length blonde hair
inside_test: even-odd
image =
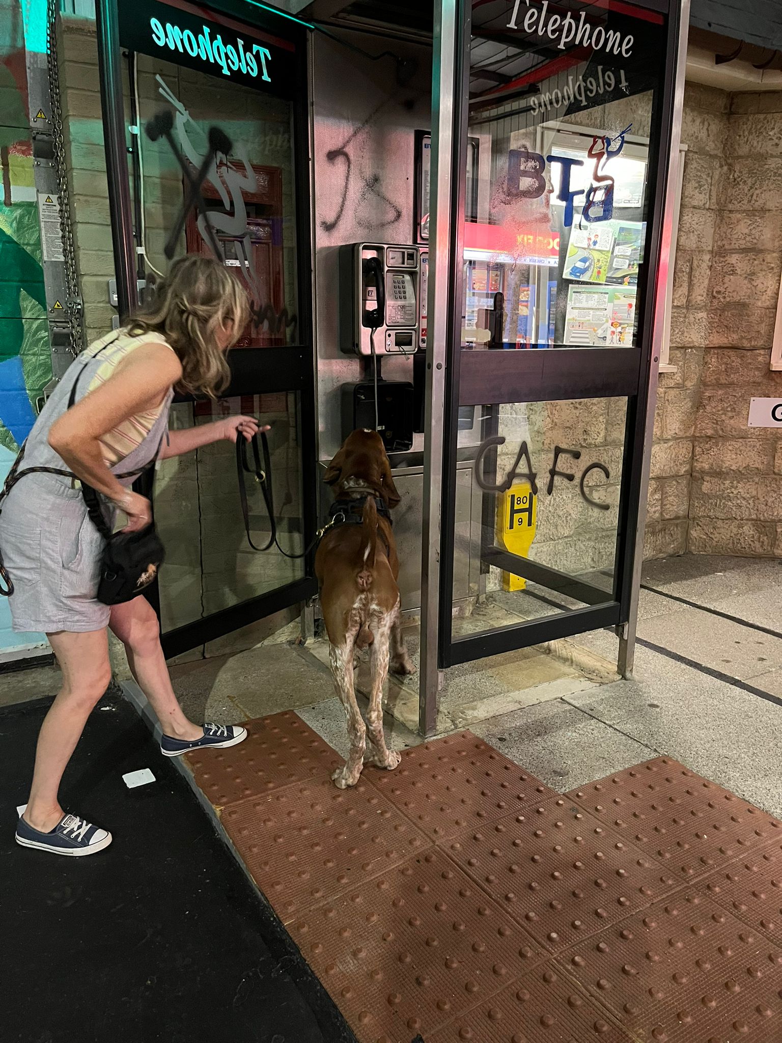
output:
[[[154,298],[139,309],[127,330],[130,336],[163,334],[181,363],[177,389],[216,398],[230,379],[227,349],[220,348],[216,334],[233,322],[233,347],[249,314],[247,293],[227,268],[214,258],[188,253],[171,265]]]

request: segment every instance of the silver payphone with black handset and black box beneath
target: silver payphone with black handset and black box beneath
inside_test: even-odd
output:
[[[373,428],[389,453],[407,452],[422,430],[425,379],[414,366],[426,346],[425,248],[398,243],[349,243],[340,247],[340,347],[365,360],[365,379],[342,385],[342,431]],[[383,358],[409,357],[412,381],[386,381]],[[422,358],[422,355],[419,355]]]

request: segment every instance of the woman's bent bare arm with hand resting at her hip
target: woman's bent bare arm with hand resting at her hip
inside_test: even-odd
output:
[[[127,489],[106,466],[100,438],[128,417],[160,404],[180,377],[181,365],[169,347],[141,344],[105,384],[54,421],[49,444],[77,478],[124,509]]]

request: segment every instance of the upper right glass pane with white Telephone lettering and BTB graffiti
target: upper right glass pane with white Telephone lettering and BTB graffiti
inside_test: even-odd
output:
[[[518,0],[472,18],[463,344],[633,346],[663,16]]]

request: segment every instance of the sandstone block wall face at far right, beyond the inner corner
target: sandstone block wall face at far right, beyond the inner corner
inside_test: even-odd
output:
[[[779,556],[782,435],[747,422],[751,397],[782,395],[782,373],[768,368],[782,272],[782,93],[723,98],[687,549]]]

